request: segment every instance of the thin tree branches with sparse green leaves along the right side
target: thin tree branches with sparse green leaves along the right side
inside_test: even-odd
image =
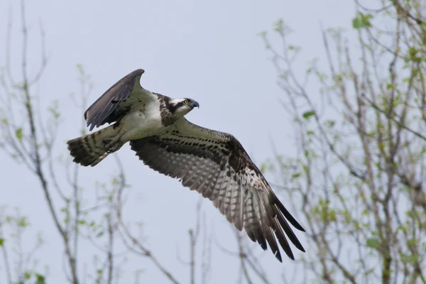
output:
[[[262,35],[297,147],[273,168],[308,228],[307,278],[426,283],[426,2],[354,2],[356,42],[322,31],[304,76],[283,21]]]

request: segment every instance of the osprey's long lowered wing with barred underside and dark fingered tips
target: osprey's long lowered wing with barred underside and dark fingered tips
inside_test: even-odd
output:
[[[288,222],[305,230],[278,200],[234,136],[204,129],[182,118],[165,134],[134,140],[130,145],[150,168],[181,179],[183,186],[212,200],[236,229],[241,231],[244,227],[250,239],[264,250],[268,243],[279,261],[282,259],[277,239],[294,259],[285,235],[297,249],[305,251]]]

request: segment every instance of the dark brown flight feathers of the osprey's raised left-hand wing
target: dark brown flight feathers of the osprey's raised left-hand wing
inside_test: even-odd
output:
[[[121,78],[84,112],[84,119],[86,119],[90,131],[95,126],[99,127],[102,124],[116,121],[114,110],[121,101],[129,97],[135,84],[139,84],[143,72],[145,72],[143,69],[138,69]],[[114,117],[110,117],[111,115]]]

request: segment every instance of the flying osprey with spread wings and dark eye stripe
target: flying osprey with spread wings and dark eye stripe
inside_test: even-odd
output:
[[[200,107],[198,102],[143,89],[139,82],[143,72],[139,69],[126,75],[87,109],[84,119],[91,131],[114,124],[68,141],[73,161],[97,165],[130,141],[131,150],[143,163],[212,200],[236,229],[244,228],[263,250],[268,243],[279,261],[278,243],[294,260],[285,235],[305,251],[288,222],[305,230],[278,200],[241,143],[231,134],[187,121],[185,114]]]

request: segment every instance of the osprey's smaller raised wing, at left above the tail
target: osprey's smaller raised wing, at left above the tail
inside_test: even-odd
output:
[[[153,93],[141,87],[139,80],[143,72],[143,69],[138,69],[121,78],[84,112],[84,119],[87,126],[90,126],[90,131],[95,126],[116,121],[120,114],[128,111],[129,104],[122,105],[121,102],[129,97],[138,98],[140,102],[155,98]]]

